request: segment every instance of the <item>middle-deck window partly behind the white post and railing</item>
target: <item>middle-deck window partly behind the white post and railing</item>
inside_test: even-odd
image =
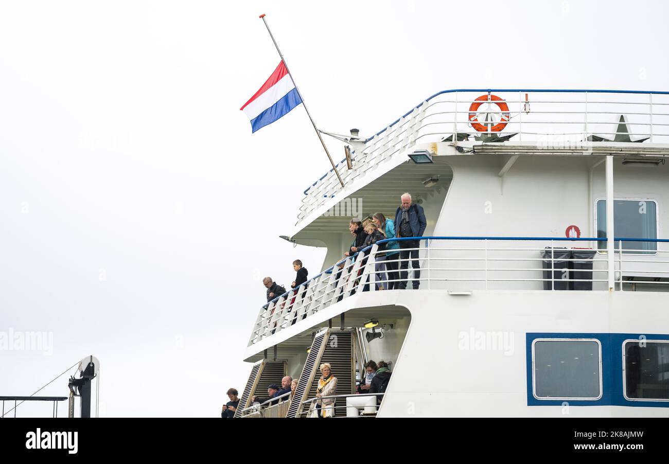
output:
[[[657,205],[653,200],[613,200],[613,235],[630,239],[658,238]],[[597,200],[597,238],[606,238],[606,200]],[[620,242],[615,242],[615,249]],[[606,242],[597,242],[599,249],[606,249]],[[653,241],[623,240],[623,254],[652,254],[658,249]]]

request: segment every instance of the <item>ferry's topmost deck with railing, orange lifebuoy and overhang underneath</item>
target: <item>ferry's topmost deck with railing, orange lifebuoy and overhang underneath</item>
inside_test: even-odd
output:
[[[488,100],[488,96],[499,100]],[[497,130],[500,123],[503,128]],[[345,161],[337,164],[345,187],[330,170],[304,191],[298,221],[290,233],[298,243],[312,244],[300,232],[314,222],[312,229],[319,232],[335,223],[341,226],[327,212],[347,198],[359,198],[365,205],[382,209],[378,192],[397,193],[393,190],[397,179],[403,181],[403,191],[427,195],[425,166],[403,166],[408,155],[419,149],[433,156],[669,154],[669,92],[445,90],[374,136],[352,138],[349,143],[353,168],[349,170]],[[452,172],[446,167],[438,175],[444,185]]]

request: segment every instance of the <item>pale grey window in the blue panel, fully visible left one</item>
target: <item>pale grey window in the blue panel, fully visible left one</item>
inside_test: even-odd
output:
[[[532,344],[535,398],[601,398],[599,340],[537,339]]]

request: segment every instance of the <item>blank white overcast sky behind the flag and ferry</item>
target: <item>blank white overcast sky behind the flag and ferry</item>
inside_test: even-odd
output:
[[[253,135],[239,110],[279,62],[260,13],[316,124],[368,136],[450,88],[669,90],[668,5],[4,0],[0,332],[53,353],[0,350],[0,395],[88,354],[101,416],[219,417],[242,390],[262,277],[322,263],[278,236],[329,168],[301,107]]]

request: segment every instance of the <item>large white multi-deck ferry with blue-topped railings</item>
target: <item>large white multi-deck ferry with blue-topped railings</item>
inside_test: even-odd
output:
[[[669,92],[445,90],[338,137],[282,237],[324,263],[258,304],[235,417],[318,417],[324,363],[334,418],[666,417]],[[351,219],[405,193],[423,234],[345,256]],[[375,266],[392,241],[418,244],[405,289]],[[369,360],[391,376],[360,394]],[[294,392],[252,402],[283,376]]]

